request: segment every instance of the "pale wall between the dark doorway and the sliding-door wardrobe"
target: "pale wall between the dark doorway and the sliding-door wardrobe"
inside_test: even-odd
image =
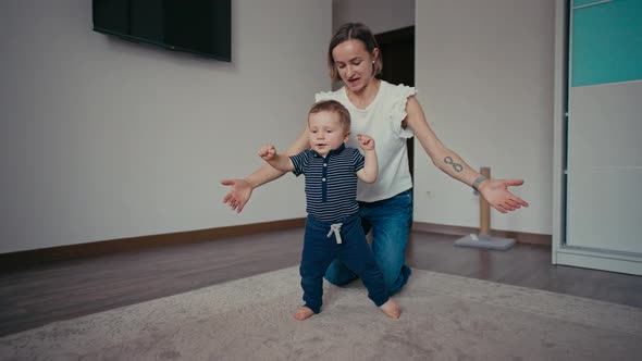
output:
[[[416,9],[418,100],[439,137],[530,208],[492,228],[552,233],[554,0],[425,0]],[[479,200],[416,142],[415,221],[479,226]],[[429,194],[430,192],[430,194]]]

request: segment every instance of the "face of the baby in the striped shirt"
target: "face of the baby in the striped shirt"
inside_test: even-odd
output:
[[[339,115],[333,112],[319,112],[308,117],[308,134],[310,148],[321,157],[328,155],[332,149],[341,147],[348,139],[349,132],[345,132],[339,122]]]

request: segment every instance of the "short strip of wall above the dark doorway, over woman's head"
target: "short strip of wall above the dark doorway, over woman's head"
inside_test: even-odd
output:
[[[374,34],[415,25],[415,0],[333,0],[333,29],[363,23]]]

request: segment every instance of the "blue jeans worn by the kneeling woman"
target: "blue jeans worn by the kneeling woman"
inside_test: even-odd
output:
[[[363,233],[372,231],[372,252],[383,274],[387,291],[394,295],[408,282],[410,267],[406,261],[406,246],[412,222],[412,190],[376,202],[359,202]],[[357,275],[339,260],[334,260],[325,272],[325,279],[343,286]]]

